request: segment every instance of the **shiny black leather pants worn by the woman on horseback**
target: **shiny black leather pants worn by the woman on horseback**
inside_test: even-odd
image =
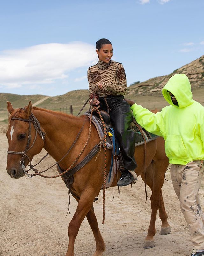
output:
[[[125,169],[134,170],[137,167],[135,152],[135,132],[128,130],[132,121],[130,105],[122,95],[108,96],[106,98],[111,111],[109,110],[111,123],[115,132],[116,140],[120,147],[120,161]],[[99,98],[100,109],[108,112],[104,98]]]

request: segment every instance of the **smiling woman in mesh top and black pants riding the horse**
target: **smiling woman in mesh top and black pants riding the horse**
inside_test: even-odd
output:
[[[137,167],[135,151],[135,132],[129,130],[132,114],[129,104],[123,95],[127,93],[126,74],[120,62],[111,60],[113,47],[108,39],[102,38],[96,42],[98,63],[88,69],[90,103],[93,100],[100,109],[110,110],[111,123],[115,137],[120,147],[120,172],[117,185],[126,186],[134,181],[128,170]],[[95,88],[97,91],[95,93]]]

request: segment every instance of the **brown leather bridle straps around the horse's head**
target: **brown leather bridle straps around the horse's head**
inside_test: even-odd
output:
[[[22,108],[25,110],[25,108]],[[31,115],[29,116],[29,119],[24,119],[24,118],[19,118],[19,117],[12,117],[11,120],[20,120],[20,121],[24,121],[24,122],[29,122],[29,133],[28,133],[28,141],[27,141],[27,145],[25,147],[25,150],[22,152],[18,152],[18,151],[7,151],[7,154],[20,154],[23,155],[21,160],[20,160],[20,164],[22,165],[22,169],[25,172],[25,174],[29,177],[32,178],[31,174],[28,174],[28,172],[26,172],[25,170],[25,164],[24,164],[24,160],[25,157],[27,157],[29,163],[30,163],[30,169],[32,169],[34,172],[36,172],[37,170],[34,168],[34,166],[31,164],[31,160],[29,158],[29,156],[27,155],[28,150],[30,150],[33,145],[35,144],[36,138],[37,138],[37,133],[40,135],[40,137],[42,138],[43,141],[45,141],[44,137],[45,137],[45,133],[41,130],[40,128],[40,123],[38,121],[38,119],[33,115],[33,113],[31,113]],[[29,147],[30,142],[31,142],[31,123],[33,123],[34,128],[35,128],[35,138],[33,140],[33,144]],[[29,170],[28,170],[29,171]]]

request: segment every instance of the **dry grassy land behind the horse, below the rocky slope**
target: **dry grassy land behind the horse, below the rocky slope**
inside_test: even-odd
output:
[[[50,97],[37,105],[37,107],[69,113],[70,105],[72,105],[73,114],[77,115],[88,99],[88,95],[88,90],[71,91],[64,95]],[[26,106],[30,100],[32,103],[35,103],[44,97],[45,96],[43,95],[16,95],[0,93],[0,124],[4,125],[7,123],[8,112],[6,109],[6,101],[10,101],[14,108],[20,108]],[[160,111],[162,108],[168,105],[161,92],[157,92],[154,95],[131,94],[131,96],[128,98],[134,100],[137,104],[142,105],[149,110],[157,109]],[[193,91],[193,99],[201,104],[204,104],[204,88],[199,88]],[[86,105],[82,113],[84,113],[88,108],[89,104]]]

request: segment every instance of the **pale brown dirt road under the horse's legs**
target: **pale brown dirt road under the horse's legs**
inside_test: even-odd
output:
[[[6,172],[7,139],[0,133],[0,255],[1,256],[65,256],[68,244],[67,227],[77,206],[71,198],[71,215],[65,218],[68,207],[67,189],[61,178],[14,180]],[[41,158],[41,152],[35,161]],[[34,162],[34,161],[33,161]],[[48,158],[41,164],[43,169],[53,163]],[[56,173],[53,169],[50,174]],[[169,172],[166,175],[170,178]],[[106,190],[106,217],[102,225],[102,193],[94,203],[99,228],[106,243],[104,256],[188,256],[191,243],[188,228],[179,209],[179,201],[171,182],[164,182],[163,195],[171,234],[161,236],[161,221],[156,221],[156,246],[143,249],[143,240],[147,234],[150,220],[150,201],[145,203],[142,179],[133,188],[120,189],[120,198],[113,198],[113,188]],[[140,188],[140,189],[139,189]],[[148,189],[150,197],[150,190]],[[201,204],[204,205],[203,185],[200,189]],[[91,228],[85,219],[79,230],[75,244],[75,255],[92,255],[95,241]]]

